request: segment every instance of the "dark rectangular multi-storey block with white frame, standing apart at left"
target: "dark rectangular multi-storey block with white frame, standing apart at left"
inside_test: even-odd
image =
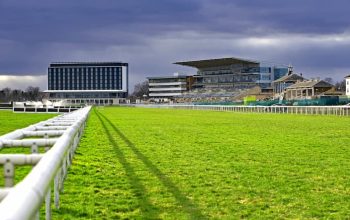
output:
[[[48,68],[50,101],[117,104],[128,95],[128,63],[63,62]]]

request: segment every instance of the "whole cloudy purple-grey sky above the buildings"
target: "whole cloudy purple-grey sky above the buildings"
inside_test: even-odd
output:
[[[242,57],[304,76],[350,74],[348,0],[0,0],[0,88],[46,89],[57,61],[123,61],[130,87]]]

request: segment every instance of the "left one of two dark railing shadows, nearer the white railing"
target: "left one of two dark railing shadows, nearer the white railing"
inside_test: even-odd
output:
[[[138,197],[141,212],[144,215],[143,217],[146,219],[159,219],[159,217],[158,217],[159,210],[145,196],[146,189],[142,185],[137,174],[135,173],[134,168],[126,160],[123,151],[120,150],[118,143],[114,140],[113,135],[108,130],[105,122],[102,120],[102,118],[101,118],[102,115],[99,114],[95,109],[94,109],[94,111],[95,111],[98,119],[100,120],[102,127],[105,130],[105,133],[108,136],[108,140],[113,145],[114,151],[116,152],[116,156],[117,156],[119,162],[121,163],[124,170],[126,171],[126,176],[128,177],[129,182],[130,182],[132,188],[134,189],[134,194]]]

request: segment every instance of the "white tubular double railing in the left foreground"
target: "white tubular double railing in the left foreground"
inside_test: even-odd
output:
[[[58,208],[59,192],[90,109],[85,107],[0,137],[0,149],[28,147],[32,153],[0,154],[5,177],[5,188],[0,189],[0,219],[38,219],[44,201],[46,219],[51,219],[51,187]],[[40,147],[45,153],[39,153]],[[35,167],[15,185],[15,167],[20,165]]]

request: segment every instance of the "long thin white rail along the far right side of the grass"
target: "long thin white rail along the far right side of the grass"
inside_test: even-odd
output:
[[[227,106],[227,105],[135,105],[143,108],[212,110],[223,112],[255,112],[302,115],[349,116],[350,106]]]

